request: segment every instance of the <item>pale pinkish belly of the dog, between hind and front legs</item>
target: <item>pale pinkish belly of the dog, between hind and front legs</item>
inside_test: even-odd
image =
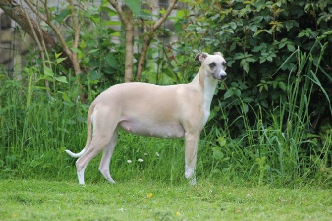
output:
[[[184,128],[179,123],[122,120],[118,125],[123,130],[140,136],[179,138],[185,134]]]

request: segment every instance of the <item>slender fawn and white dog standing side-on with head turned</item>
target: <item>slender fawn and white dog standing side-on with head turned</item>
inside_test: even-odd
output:
[[[185,138],[185,177],[196,184],[195,167],[200,133],[210,115],[210,105],[219,81],[227,74],[220,52],[198,53],[201,66],[188,84],[159,86],[131,82],[116,84],[102,92],[88,110],[88,138],[75,154],[78,181],[85,185],[84,170],[103,150],[99,171],[111,183],[110,162],[118,127],[130,133],[160,138]],[[91,131],[91,124],[93,130]],[[92,132],[92,134],[91,134]]]

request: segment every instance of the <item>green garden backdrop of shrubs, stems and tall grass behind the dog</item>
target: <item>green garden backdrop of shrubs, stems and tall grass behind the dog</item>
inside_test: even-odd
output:
[[[19,23],[21,10],[31,23],[1,22],[12,36],[0,57],[11,50],[6,61],[20,60],[0,66],[1,179],[76,182],[75,159],[64,150],[84,147],[98,94],[125,81],[187,83],[198,72],[198,52],[220,51],[227,79],[201,134],[198,182],[331,188],[331,1],[124,0],[121,11],[112,0],[68,2],[0,1],[1,18]],[[24,41],[22,29],[32,39]],[[18,42],[28,42],[25,51]],[[181,183],[183,146],[120,132],[112,177]],[[99,157],[87,183],[104,182],[98,166]]]

